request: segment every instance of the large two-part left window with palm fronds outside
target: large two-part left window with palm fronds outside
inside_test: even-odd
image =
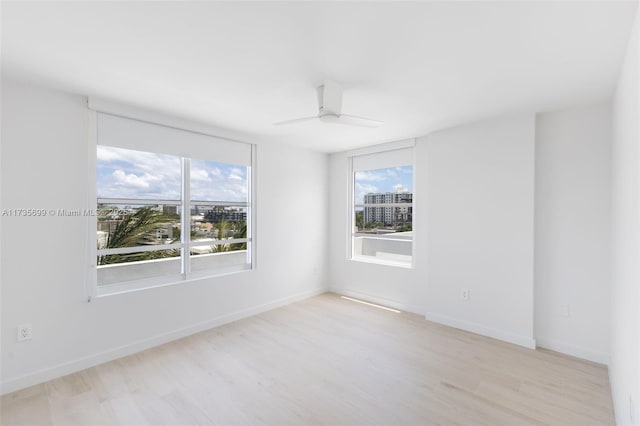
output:
[[[251,269],[251,145],[96,120],[97,294]]]

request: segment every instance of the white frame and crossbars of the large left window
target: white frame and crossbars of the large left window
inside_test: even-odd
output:
[[[129,107],[124,107],[117,104],[112,104],[110,102],[104,101],[94,101],[97,104],[97,108],[92,108],[92,100],[89,100],[89,149],[88,149],[88,172],[89,172],[89,190],[88,190],[88,205],[91,206],[93,211],[95,212],[92,215],[88,215],[87,217],[87,228],[88,235],[86,238],[87,241],[87,250],[89,257],[89,272],[87,277],[87,293],[88,299],[91,301],[92,298],[108,296],[113,294],[122,294],[128,293],[132,291],[138,291],[148,288],[161,287],[166,285],[187,283],[191,281],[201,280],[205,278],[214,278],[219,276],[225,276],[229,274],[235,274],[239,272],[252,271],[256,269],[256,208],[255,208],[255,199],[256,199],[256,146],[254,144],[250,144],[247,142],[237,141],[229,138],[215,136],[211,133],[202,131],[201,126],[198,125],[190,125],[189,123],[183,123],[180,120],[175,120],[170,117],[164,117],[161,115],[148,113],[144,111],[137,111],[131,109]],[[115,109],[115,112],[114,112]],[[124,109],[128,113],[127,115],[121,114],[120,110]],[[217,139],[223,139],[227,142],[236,142],[239,144],[249,145],[250,147],[250,160],[249,164],[246,167],[247,170],[247,202],[237,202],[237,201],[218,201],[218,200],[191,200],[190,197],[190,166],[191,160],[207,160],[214,162],[222,162],[224,161],[217,160],[216,158],[191,158],[186,156],[178,156],[175,154],[170,154],[176,156],[180,159],[180,168],[182,174],[182,182],[181,182],[181,196],[180,200],[129,200],[129,199],[111,199],[111,198],[101,198],[97,197],[97,149],[100,145],[98,143],[98,114],[105,113],[110,115],[120,116],[122,118],[136,120],[141,122],[146,122],[149,124],[154,124],[158,126],[170,127],[173,129],[181,130],[184,132],[192,132],[198,134],[204,134],[206,136],[212,136]],[[151,119],[149,119],[151,117]],[[178,122],[178,125],[176,125]],[[195,127],[195,128],[192,128]],[[102,145],[109,146],[109,145]],[[138,148],[124,148],[124,149],[132,149],[139,150]],[[150,152],[150,151],[147,151]],[[231,163],[225,163],[231,164]],[[143,205],[143,204],[166,204],[166,205],[176,205],[179,209],[181,209],[180,215],[180,224],[181,224],[181,236],[180,242],[174,242],[171,244],[164,245],[154,245],[150,246],[150,248],[145,250],[165,250],[165,249],[180,249],[180,271],[178,274],[170,274],[170,275],[159,275],[155,277],[142,278],[131,281],[123,281],[123,282],[115,282],[109,284],[98,284],[98,265],[97,265],[97,257],[98,257],[98,248],[96,244],[96,230],[98,229],[98,215],[97,215],[97,207],[98,204],[102,201],[109,201],[113,203],[113,201],[126,201],[131,205]],[[210,268],[206,270],[197,270],[192,271],[190,268],[191,263],[191,248],[198,247],[205,244],[198,243],[197,241],[191,240],[190,232],[183,232],[183,230],[190,229],[191,227],[191,206],[192,205],[211,205],[211,206],[230,206],[237,205],[241,207],[245,207],[247,209],[247,237],[234,239],[234,243],[247,243],[246,248],[246,263],[231,265],[231,266],[222,266],[216,268]],[[185,214],[186,212],[186,214]],[[212,245],[210,243],[206,245]],[[140,247],[135,247],[139,250]],[[119,251],[127,251],[132,248],[122,247],[116,249],[109,249],[110,251],[119,252]],[[178,258],[178,257],[176,257]]]

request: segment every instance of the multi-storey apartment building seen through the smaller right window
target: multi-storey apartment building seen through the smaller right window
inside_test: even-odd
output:
[[[364,196],[364,223],[378,222],[385,226],[401,226],[410,224],[413,219],[413,193],[402,191],[369,193]],[[375,206],[367,204],[408,204],[404,206]]]

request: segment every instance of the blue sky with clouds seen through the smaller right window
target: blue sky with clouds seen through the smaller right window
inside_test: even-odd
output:
[[[413,167],[389,167],[386,169],[356,172],[354,195],[356,203],[363,203],[364,194],[376,192],[396,192],[402,187],[413,192]]]

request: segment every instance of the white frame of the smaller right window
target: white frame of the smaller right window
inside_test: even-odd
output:
[[[412,228],[412,238],[411,238],[411,262],[401,262],[401,261],[393,261],[393,260],[383,260],[383,259],[375,259],[372,257],[358,256],[355,253],[355,244],[354,238],[357,234],[356,232],[356,208],[361,207],[364,209],[365,204],[356,203],[355,199],[355,183],[356,183],[356,168],[354,167],[354,159],[359,156],[365,156],[369,154],[381,154],[397,151],[401,149],[410,149],[411,150],[411,164],[405,164],[406,166],[412,167],[412,202],[411,203],[383,203],[383,204],[367,204],[367,207],[411,207],[412,208],[412,218],[411,218],[411,228]],[[361,262],[361,263],[370,263],[376,265],[385,265],[392,266],[398,268],[405,269],[414,269],[415,268],[415,242],[416,242],[416,203],[415,203],[415,194],[416,194],[416,166],[415,166],[415,139],[406,139],[402,141],[390,142],[382,145],[375,145],[371,147],[366,147],[358,150],[348,151],[347,152],[347,260],[353,262]],[[393,167],[393,166],[388,166]],[[367,170],[375,170],[375,169],[367,169]]]

